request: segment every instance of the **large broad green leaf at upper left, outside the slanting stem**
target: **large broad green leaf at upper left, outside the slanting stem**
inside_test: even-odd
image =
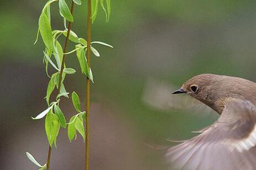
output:
[[[42,12],[39,18],[39,31],[44,41],[44,44],[47,46],[47,49],[53,51],[53,41],[52,41],[52,28],[51,23],[47,15]]]

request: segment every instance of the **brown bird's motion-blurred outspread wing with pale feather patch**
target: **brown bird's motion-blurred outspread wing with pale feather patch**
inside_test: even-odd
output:
[[[256,169],[256,111],[249,101],[229,99],[216,122],[171,147],[168,162],[185,170]]]

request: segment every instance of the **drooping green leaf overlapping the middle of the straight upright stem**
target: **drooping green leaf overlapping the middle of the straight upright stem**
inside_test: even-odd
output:
[[[84,49],[82,48],[81,44],[76,45],[76,48],[77,48],[76,56],[79,60],[81,71],[86,76],[89,76],[89,66],[87,63],[87,59],[85,57]]]

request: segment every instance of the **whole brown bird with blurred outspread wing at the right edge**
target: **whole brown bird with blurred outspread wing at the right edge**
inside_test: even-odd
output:
[[[214,74],[194,76],[172,94],[188,94],[220,117],[166,154],[177,169],[256,169],[256,83]]]

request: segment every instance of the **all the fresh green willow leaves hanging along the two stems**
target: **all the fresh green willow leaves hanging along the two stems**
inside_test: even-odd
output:
[[[76,5],[81,5],[81,0],[72,0]],[[51,4],[53,2],[59,3],[59,14],[63,17],[64,28],[52,29],[51,25]],[[92,22],[96,19],[98,13],[98,6],[101,6],[105,12],[106,22],[109,21],[110,16],[110,0],[92,0]],[[81,102],[79,95],[76,92],[72,92],[72,103],[77,113],[73,115],[70,120],[66,121],[65,114],[60,108],[61,96],[69,98],[69,92],[65,90],[64,80],[66,75],[75,74],[76,70],[67,67],[67,63],[63,59],[66,55],[76,53],[76,58],[79,62],[81,73],[88,77],[93,82],[92,69],[88,66],[86,59],[86,50],[88,49],[87,41],[77,36],[70,28],[67,28],[67,21],[74,22],[74,18],[71,10],[65,0],[49,0],[44,5],[42,13],[39,16],[38,22],[38,33],[36,36],[36,42],[38,41],[39,35],[45,45],[43,50],[43,62],[46,65],[46,74],[49,77],[49,82],[46,91],[46,103],[47,109],[39,113],[36,117],[32,117],[33,120],[39,120],[45,117],[45,130],[49,145],[52,147],[53,143],[55,147],[57,141],[57,135],[59,134],[60,128],[67,128],[69,141],[77,138],[77,131],[85,141],[85,111],[81,111]],[[70,24],[70,23],[69,23]],[[73,42],[74,49],[70,52],[65,52],[59,42],[59,37],[64,36],[69,41]],[[90,49],[94,56],[100,57],[100,53],[93,45],[100,44],[113,48],[112,45],[106,44],[101,41],[93,41],[90,44]],[[51,65],[55,69],[55,73],[49,74],[48,67]],[[53,91],[57,91],[55,100],[51,101]],[[41,170],[46,169],[46,164],[40,165],[35,158],[30,154],[26,153],[28,159],[37,165]]]

